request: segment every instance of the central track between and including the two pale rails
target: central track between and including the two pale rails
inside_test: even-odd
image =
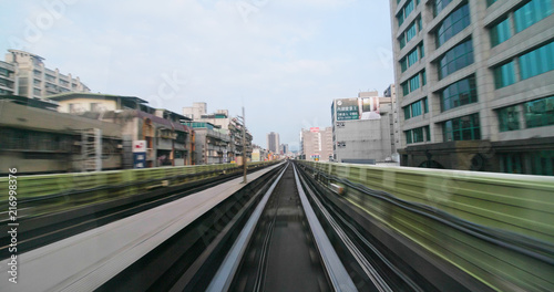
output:
[[[266,191],[207,291],[357,291],[293,164]]]

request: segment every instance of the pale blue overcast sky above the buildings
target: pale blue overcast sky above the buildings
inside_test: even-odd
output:
[[[182,114],[246,108],[254,143],[298,146],[334,98],[393,82],[387,0],[0,0],[0,49],[25,50],[92,92]]]

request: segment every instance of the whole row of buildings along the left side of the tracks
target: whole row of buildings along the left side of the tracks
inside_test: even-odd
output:
[[[253,136],[227,109],[183,114],[136,96],[90,93],[43,59],[9,50],[0,62],[0,166],[21,174],[243,164]],[[244,138],[243,138],[244,137]],[[265,156],[267,159],[267,156]]]

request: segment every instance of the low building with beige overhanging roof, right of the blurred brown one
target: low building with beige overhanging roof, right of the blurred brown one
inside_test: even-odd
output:
[[[93,119],[112,122],[122,128],[124,167],[134,163],[132,145],[144,142],[144,167],[182,166],[193,161],[193,129],[184,122],[191,119],[171,111],[155,109],[135,96],[95,93],[64,93],[49,96],[59,103],[59,111]]]

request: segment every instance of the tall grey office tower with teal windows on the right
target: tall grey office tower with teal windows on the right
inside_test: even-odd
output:
[[[391,0],[401,164],[554,174],[552,0]]]

